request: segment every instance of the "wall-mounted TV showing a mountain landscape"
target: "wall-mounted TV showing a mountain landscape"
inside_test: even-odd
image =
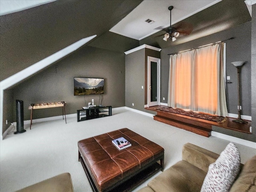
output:
[[[83,79],[83,78],[77,78]],[[97,80],[88,78],[90,80]],[[100,82],[96,85],[90,85],[86,82],[79,82],[74,78],[74,95],[91,95],[91,94],[103,94],[104,93],[104,79],[100,79]]]

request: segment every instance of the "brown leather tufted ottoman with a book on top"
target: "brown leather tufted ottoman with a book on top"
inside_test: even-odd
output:
[[[124,137],[132,146],[118,150],[112,140]],[[123,128],[78,142],[78,159],[81,161],[93,191],[107,192],[128,182],[142,172],[158,166],[164,169],[164,148]],[[153,168],[155,169],[155,168]],[[146,173],[147,174],[147,173]],[[120,191],[120,190],[119,190]]]

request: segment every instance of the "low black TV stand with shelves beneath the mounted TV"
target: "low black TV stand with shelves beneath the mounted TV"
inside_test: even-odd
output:
[[[108,110],[106,110],[108,109]],[[108,112],[108,114],[106,114]],[[77,122],[100,117],[107,117],[112,115],[112,106],[96,106],[88,109],[76,110]]]

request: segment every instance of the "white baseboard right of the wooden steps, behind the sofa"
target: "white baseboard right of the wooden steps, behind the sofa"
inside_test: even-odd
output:
[[[214,137],[218,137],[218,138],[221,138],[224,140],[232,141],[232,142],[256,149],[256,142],[244,140],[241,138],[233,137],[233,136],[222,134],[222,133],[215,132],[215,131],[212,131],[211,134]]]

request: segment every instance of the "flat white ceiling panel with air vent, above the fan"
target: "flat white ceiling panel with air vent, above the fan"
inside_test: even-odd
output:
[[[172,25],[200,12],[222,0],[144,0],[109,31],[136,40],[142,40],[160,30],[155,28],[170,26],[169,6],[172,10]],[[155,21],[148,24],[145,20]]]

